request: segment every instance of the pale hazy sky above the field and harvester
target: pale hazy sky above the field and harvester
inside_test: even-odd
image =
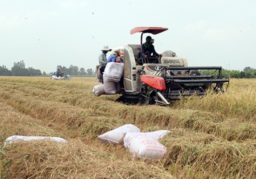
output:
[[[95,70],[103,46],[140,44],[133,28],[164,27],[151,35],[158,53],[174,51],[189,66],[256,69],[255,10],[253,0],[0,0],[0,66]]]

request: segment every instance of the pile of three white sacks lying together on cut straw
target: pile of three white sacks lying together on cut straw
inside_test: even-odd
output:
[[[169,132],[169,130],[141,132],[135,125],[126,124],[110,130],[98,136],[98,138],[103,142],[116,144],[123,140],[124,147],[129,149],[133,157],[161,159],[166,153],[167,148],[158,140]]]

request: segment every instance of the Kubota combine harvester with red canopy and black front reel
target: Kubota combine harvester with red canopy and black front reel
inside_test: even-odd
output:
[[[119,50],[123,59],[124,91],[117,101],[129,104],[146,103],[168,105],[170,100],[203,96],[209,92],[223,93],[223,84],[229,79],[222,78],[222,67],[188,67],[187,60],[177,57],[173,51],[165,51],[157,63],[148,63],[138,58],[143,34],[159,34],[168,30],[161,27],[138,27],[131,34],[141,34],[141,44],[127,45]]]

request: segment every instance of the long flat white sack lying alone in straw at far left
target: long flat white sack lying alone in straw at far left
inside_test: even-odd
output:
[[[21,135],[13,135],[11,137],[8,137],[6,139],[6,142],[4,144],[10,144],[13,142],[24,142],[24,141],[34,141],[34,140],[54,140],[57,142],[67,142],[64,138],[61,137],[42,137],[42,136],[21,136]]]

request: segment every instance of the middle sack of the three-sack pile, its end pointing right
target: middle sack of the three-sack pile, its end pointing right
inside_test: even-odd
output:
[[[137,138],[138,136],[146,136],[146,137],[152,137],[156,140],[163,138],[166,134],[168,134],[169,130],[157,130],[154,132],[132,132],[127,133],[123,139],[124,147],[129,148],[131,140]]]

